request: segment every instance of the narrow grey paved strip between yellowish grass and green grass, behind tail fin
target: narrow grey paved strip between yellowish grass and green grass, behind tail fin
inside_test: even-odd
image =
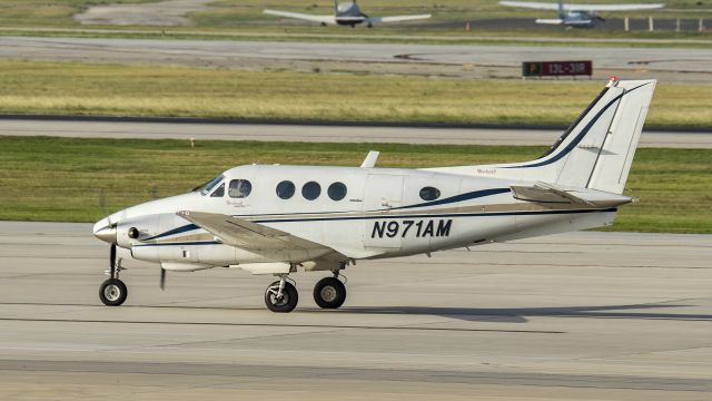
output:
[[[77,138],[552,145],[562,130],[0,119],[0,135]],[[641,147],[712,148],[712,133],[645,131]]]

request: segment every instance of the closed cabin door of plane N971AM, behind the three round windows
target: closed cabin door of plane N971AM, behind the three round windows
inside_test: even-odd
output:
[[[370,174],[364,186],[364,212],[380,211],[378,218],[364,219],[366,248],[400,248],[400,222],[389,218],[388,212],[403,205],[404,177],[392,174]]]

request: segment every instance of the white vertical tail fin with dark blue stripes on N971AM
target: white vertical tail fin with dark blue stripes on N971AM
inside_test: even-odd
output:
[[[655,80],[611,81],[542,157],[436,170],[533,180],[622,194]]]

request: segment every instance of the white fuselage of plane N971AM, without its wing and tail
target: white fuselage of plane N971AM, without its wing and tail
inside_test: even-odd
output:
[[[277,261],[300,263],[320,255],[248,252],[226,245],[178,216],[180,211],[259,223],[329,246],[348,260],[429,253],[601,226],[611,223],[615,212],[611,207],[533,204],[513,197],[511,185],[532,182],[429,170],[248,165],[229,169],[222,177],[206,193],[129,207],[98,222],[96,227],[117,224],[117,244],[130,250],[135,258],[197,270]],[[248,180],[249,195],[230,196],[239,196],[228,188],[234,180]],[[288,198],[277,194],[283,182],[294,184],[294,194]],[[309,182],[320,187],[314,199],[303,194]],[[329,187],[335,183],[343,186],[337,184],[340,190],[336,188],[330,194]],[[211,196],[221,185],[222,196]],[[284,192],[281,195],[287,197]],[[312,197],[314,193],[306,195]],[[142,233],[140,241],[129,238],[130,227]]]

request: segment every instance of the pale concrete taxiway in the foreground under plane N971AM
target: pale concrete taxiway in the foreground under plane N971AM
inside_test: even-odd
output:
[[[295,275],[131,262],[101,306],[89,224],[0,222],[3,400],[708,400],[712,236],[575,233],[359,262],[339,311]]]

